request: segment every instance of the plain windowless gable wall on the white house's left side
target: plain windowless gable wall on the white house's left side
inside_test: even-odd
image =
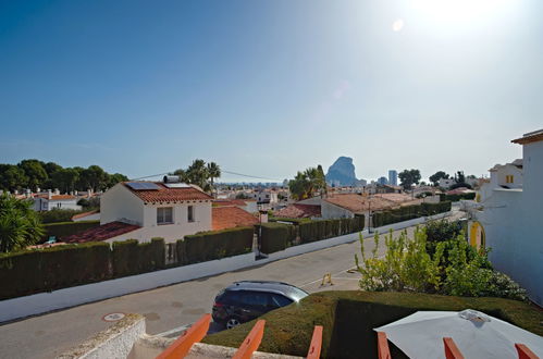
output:
[[[144,201],[118,183],[100,198],[100,224],[128,219],[144,224]]]

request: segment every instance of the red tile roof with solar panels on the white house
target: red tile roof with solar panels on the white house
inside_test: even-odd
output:
[[[168,188],[163,183],[156,183],[159,189],[135,190],[123,183],[123,185],[139,197],[146,203],[168,203],[185,200],[210,200],[213,197],[194,186],[184,188]]]

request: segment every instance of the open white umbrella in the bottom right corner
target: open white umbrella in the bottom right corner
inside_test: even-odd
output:
[[[386,333],[409,358],[444,358],[443,337],[452,337],[465,358],[518,358],[515,343],[543,358],[543,337],[482,312],[418,311],[374,329]]]

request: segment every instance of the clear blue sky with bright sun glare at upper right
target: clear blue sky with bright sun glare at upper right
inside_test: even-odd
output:
[[[0,0],[0,163],[483,175],[543,127],[538,0]],[[221,181],[259,180],[224,174]],[[266,180],[262,180],[266,182]]]

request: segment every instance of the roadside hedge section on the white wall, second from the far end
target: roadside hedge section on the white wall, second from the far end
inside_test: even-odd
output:
[[[360,232],[363,230],[365,218],[321,220],[299,224],[299,236],[303,244],[322,240],[331,237]]]

